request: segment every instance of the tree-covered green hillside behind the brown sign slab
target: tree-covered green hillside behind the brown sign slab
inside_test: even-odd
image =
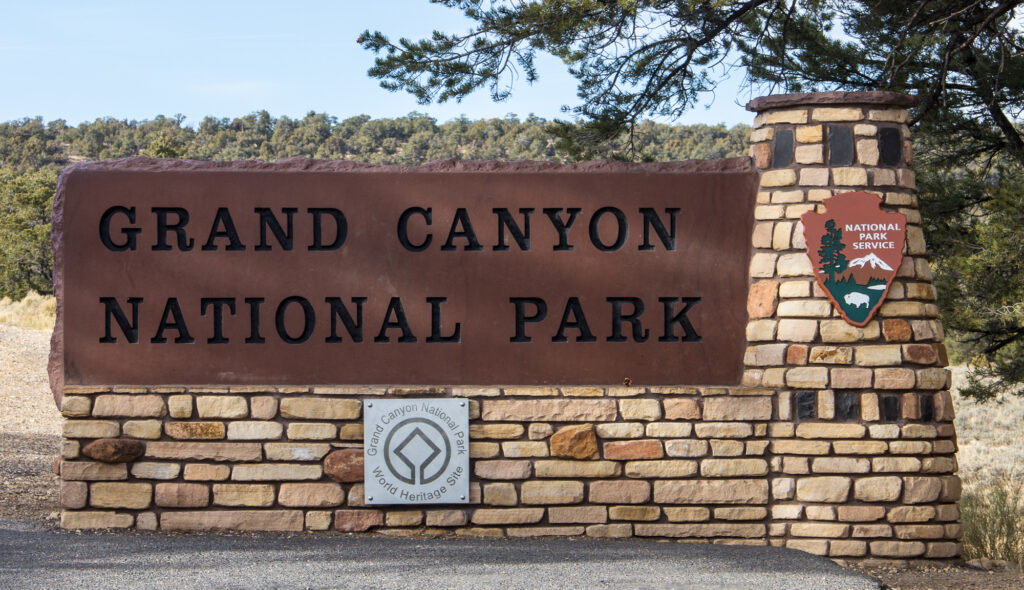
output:
[[[529,117],[438,124],[412,113],[394,119],[365,115],[339,120],[323,113],[302,119],[266,111],[237,119],[207,117],[195,127],[182,117],[125,121],[97,119],[70,126],[62,120],[0,123],[0,297],[52,291],[50,208],[57,176],[75,162],[136,156],[189,160],[264,160],[306,157],[374,164],[418,165],[464,160],[573,161]],[[745,153],[751,128],[737,125],[664,125],[646,121],[590,155],[672,161],[728,158]]]

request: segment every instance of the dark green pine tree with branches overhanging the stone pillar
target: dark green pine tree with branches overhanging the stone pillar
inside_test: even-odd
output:
[[[473,22],[470,31],[435,31],[392,41],[357,40],[375,52],[370,75],[421,102],[461,99],[485,88],[496,100],[516,80],[538,79],[540,52],[559,57],[578,80],[579,124],[560,122],[558,148],[573,158],[602,154],[624,133],[635,138],[651,115],[678,118],[701,93],[741,71],[760,93],[895,90],[915,94],[922,208],[935,260],[940,305],[968,352],[977,352],[981,397],[1016,389],[1024,375],[1024,319],[1000,313],[1015,278],[967,273],[977,252],[1024,235],[1004,214],[1005,180],[1024,173],[1024,35],[1021,0],[439,0]],[[646,159],[628,143],[625,156]],[[623,155],[620,153],[620,155]],[[1024,191],[1024,187],[1020,187]],[[996,256],[1009,257],[1008,251]],[[967,315],[962,295],[977,304]],[[1021,303],[1017,299],[1017,303]],[[998,317],[998,322],[987,319]],[[985,381],[996,377],[995,381]]]

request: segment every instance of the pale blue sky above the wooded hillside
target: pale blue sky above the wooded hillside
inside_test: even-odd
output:
[[[412,111],[439,121],[520,117],[565,118],[575,81],[550,56],[541,80],[516,84],[496,103],[486,91],[462,102],[417,104],[367,76],[373,54],[355,42],[362,31],[422,38],[434,29],[468,28],[461,12],[429,0],[335,2],[174,2],[0,0],[0,121],[23,117],[152,119],[182,114],[238,117],[266,109],[301,117],[309,111],[339,118],[396,117]],[[736,73],[734,76],[738,76]],[[749,123],[738,80],[679,123]],[[710,108],[706,108],[711,103]]]

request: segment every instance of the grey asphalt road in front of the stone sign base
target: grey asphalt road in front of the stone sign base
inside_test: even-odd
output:
[[[0,519],[0,588],[878,589],[771,547],[344,535],[76,534]]]

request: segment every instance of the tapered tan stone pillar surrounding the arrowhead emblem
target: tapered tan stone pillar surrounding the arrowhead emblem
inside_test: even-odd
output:
[[[768,541],[835,558],[959,553],[961,481],[942,326],[911,170],[907,108],[891,92],[766,96],[743,385],[775,391]],[[866,191],[906,216],[902,265],[877,317],[843,320],[814,281],[800,217]]]

